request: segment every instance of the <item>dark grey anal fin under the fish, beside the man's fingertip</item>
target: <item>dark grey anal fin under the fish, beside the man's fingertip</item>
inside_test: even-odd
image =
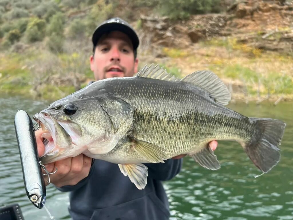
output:
[[[221,167],[219,161],[217,160],[217,156],[214,155],[214,152],[209,146],[190,156],[202,167],[209,170],[218,170]]]

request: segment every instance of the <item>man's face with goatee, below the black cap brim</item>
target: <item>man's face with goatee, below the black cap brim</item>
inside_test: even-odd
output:
[[[137,72],[131,40],[120,31],[103,35],[91,56],[91,70],[96,80],[111,77],[131,77]]]

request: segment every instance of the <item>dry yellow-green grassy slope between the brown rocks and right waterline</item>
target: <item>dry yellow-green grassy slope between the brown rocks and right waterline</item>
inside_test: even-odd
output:
[[[213,40],[187,50],[163,48],[164,57],[152,62],[184,77],[196,70],[211,70],[229,86],[232,97],[246,100],[292,100],[293,57],[237,44],[236,40]]]

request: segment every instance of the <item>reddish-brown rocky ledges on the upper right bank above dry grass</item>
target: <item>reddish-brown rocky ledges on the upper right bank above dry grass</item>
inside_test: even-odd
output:
[[[261,50],[293,53],[293,5],[279,1],[243,1],[226,13],[191,16],[172,22],[168,17],[141,16],[142,28],[154,45],[188,48],[216,37],[232,36]]]

